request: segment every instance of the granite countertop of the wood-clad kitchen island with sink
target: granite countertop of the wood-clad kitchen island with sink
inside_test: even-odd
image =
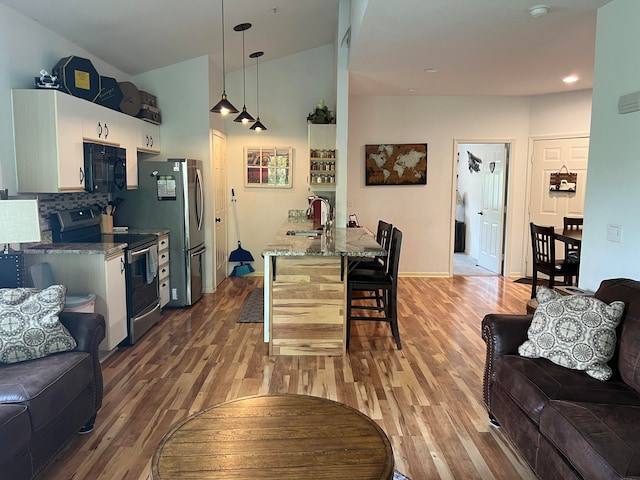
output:
[[[386,251],[367,228],[332,228],[330,234],[308,237],[287,235],[291,230],[312,231],[314,223],[286,221],[262,251],[263,256],[378,257]]]

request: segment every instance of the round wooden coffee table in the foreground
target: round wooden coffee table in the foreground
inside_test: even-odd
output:
[[[160,442],[153,480],[392,479],[389,439],[358,410],[306,395],[264,395],[187,418]]]

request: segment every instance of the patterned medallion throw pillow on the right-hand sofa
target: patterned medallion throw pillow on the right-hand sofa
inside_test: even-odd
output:
[[[616,348],[616,327],[624,302],[607,305],[594,297],[565,296],[543,286],[536,300],[529,339],[518,347],[518,353],[584,370],[598,380],[611,378],[607,362]]]

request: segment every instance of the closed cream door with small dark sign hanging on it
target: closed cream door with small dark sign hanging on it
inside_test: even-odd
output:
[[[531,163],[531,195],[529,221],[536,225],[553,225],[562,228],[563,217],[584,216],[584,195],[587,186],[587,160],[589,137],[542,139],[533,141]],[[566,166],[577,173],[576,191],[550,191],[552,173]],[[526,274],[531,276],[531,238],[527,222]],[[561,245],[556,251],[562,252]]]

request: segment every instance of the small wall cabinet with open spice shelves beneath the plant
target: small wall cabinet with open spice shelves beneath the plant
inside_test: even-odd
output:
[[[336,189],[336,126],[309,124],[309,190],[330,192]]]

